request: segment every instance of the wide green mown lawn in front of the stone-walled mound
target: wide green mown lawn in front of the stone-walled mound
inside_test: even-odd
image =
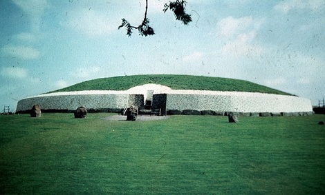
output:
[[[0,194],[324,194],[324,115],[0,116]]]

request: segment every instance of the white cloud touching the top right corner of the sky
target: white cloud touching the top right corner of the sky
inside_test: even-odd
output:
[[[324,8],[325,3],[322,0],[290,0],[281,1],[274,9],[284,13],[288,13],[290,10],[318,10]]]

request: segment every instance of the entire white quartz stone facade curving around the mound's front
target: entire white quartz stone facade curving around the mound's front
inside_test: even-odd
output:
[[[84,106],[88,110],[120,110],[126,106],[144,105],[148,99],[148,91],[152,93],[152,109],[161,109],[163,113],[183,113],[184,110],[196,110],[209,113],[310,113],[313,107],[310,100],[298,96],[277,94],[261,94],[252,92],[216,92],[199,90],[171,90],[163,85],[151,84],[141,88],[131,88],[127,91],[82,91],[57,92],[41,94],[18,102],[17,112],[30,110],[39,104],[42,110],[75,110]],[[163,86],[163,87],[160,87]],[[140,91],[135,89],[139,88]],[[162,90],[163,89],[163,90]],[[177,111],[177,112],[176,112]],[[206,113],[206,112],[204,112]],[[249,115],[249,114],[248,114]]]

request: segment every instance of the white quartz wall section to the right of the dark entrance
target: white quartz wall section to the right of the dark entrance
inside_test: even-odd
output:
[[[167,110],[312,112],[310,100],[275,94],[167,94]]]

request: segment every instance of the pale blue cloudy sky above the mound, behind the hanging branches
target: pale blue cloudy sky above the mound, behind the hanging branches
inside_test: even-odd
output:
[[[136,74],[252,81],[318,104],[325,96],[325,0],[149,0],[155,35],[131,37],[145,0],[0,1],[0,110],[75,83]]]

